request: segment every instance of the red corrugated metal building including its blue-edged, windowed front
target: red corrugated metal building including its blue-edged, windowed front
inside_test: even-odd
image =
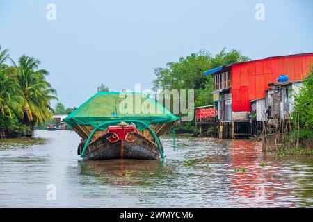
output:
[[[260,60],[223,65],[204,75],[214,77],[214,108],[220,121],[245,119],[250,101],[264,98],[268,83],[280,75],[290,80],[303,80],[310,74],[313,53],[275,56]]]

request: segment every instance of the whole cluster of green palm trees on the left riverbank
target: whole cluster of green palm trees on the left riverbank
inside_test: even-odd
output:
[[[38,69],[39,64],[25,55],[16,64],[8,49],[0,46],[0,128],[15,135],[31,134],[35,124],[51,119],[50,101],[57,99],[56,90],[45,79],[49,72]]]

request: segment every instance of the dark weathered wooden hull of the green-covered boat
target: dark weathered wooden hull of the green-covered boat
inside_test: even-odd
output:
[[[80,154],[85,141],[79,144]],[[135,159],[135,160],[158,160],[159,149],[144,137],[136,136],[134,141],[118,140],[110,142],[109,139],[100,138],[87,146],[83,160],[112,160],[112,159]]]

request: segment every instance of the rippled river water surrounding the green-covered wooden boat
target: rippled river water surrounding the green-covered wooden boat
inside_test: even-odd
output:
[[[313,207],[312,155],[177,136],[176,151],[171,137],[161,139],[163,162],[92,162],[79,159],[79,140],[63,130],[0,139],[0,207]]]

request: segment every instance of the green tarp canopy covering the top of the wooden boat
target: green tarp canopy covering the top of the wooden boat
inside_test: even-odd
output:
[[[98,92],[63,120],[69,128],[72,128],[73,124],[93,127],[101,124],[99,129],[106,130],[109,125],[112,125],[110,121],[131,123],[132,119],[149,125],[170,123],[179,120],[180,117],[142,93]],[[106,122],[108,125],[105,124]],[[146,128],[145,124],[135,123],[135,125],[138,130]]]

